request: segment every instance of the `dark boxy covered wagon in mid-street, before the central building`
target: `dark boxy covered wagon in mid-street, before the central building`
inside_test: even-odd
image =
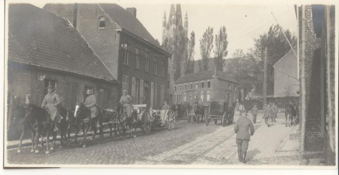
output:
[[[215,124],[217,124],[218,120],[220,120],[223,127],[231,122],[228,115],[228,104],[226,101],[214,100],[210,102],[208,111],[205,112],[206,126],[208,126],[212,120]]]

